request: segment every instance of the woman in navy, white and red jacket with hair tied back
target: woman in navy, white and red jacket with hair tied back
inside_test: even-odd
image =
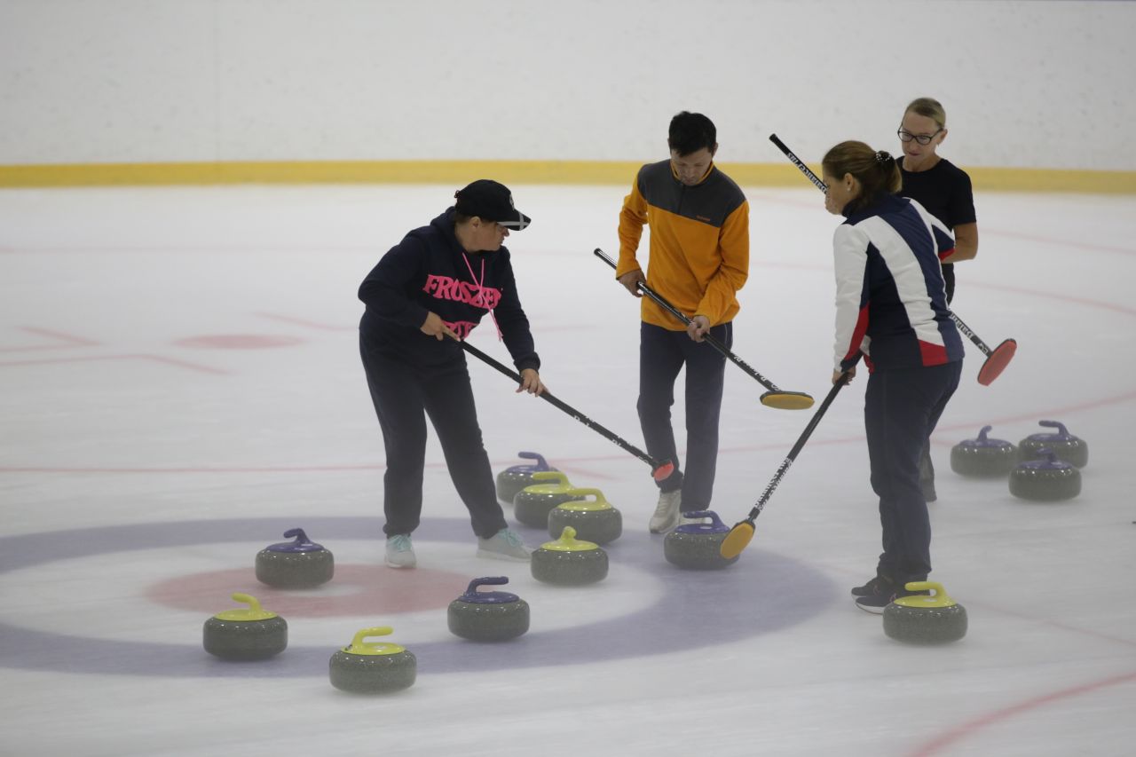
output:
[[[939,263],[953,252],[954,240],[922,206],[896,194],[900,172],[887,152],[842,142],[821,166],[825,207],[845,217],[833,236],[833,381],[844,372],[854,375],[864,358],[864,429],[883,526],[876,576],[852,594],[862,609],[883,613],[892,599],[911,593],[904,584],[930,572],[919,456],[962,372],[962,341]]]

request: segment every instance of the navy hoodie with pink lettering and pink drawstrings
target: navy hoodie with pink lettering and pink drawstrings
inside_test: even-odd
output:
[[[421,371],[442,369],[463,363],[465,353],[450,338],[440,341],[424,334],[426,315],[436,313],[465,339],[492,310],[517,371],[538,369],[509,250],[466,252],[454,236],[453,216],[449,208],[429,226],[408,233],[364,280],[362,340]]]

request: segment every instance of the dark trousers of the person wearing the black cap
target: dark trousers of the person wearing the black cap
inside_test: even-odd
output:
[[[474,533],[490,538],[507,526],[496,501],[488,455],[465,359],[426,372],[368,346],[360,338],[370,399],[386,448],[383,476],[384,533],[411,533],[423,509],[426,416],[445,456],[450,479],[469,510]]]

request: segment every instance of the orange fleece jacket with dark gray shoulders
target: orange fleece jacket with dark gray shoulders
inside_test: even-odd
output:
[[[678,181],[669,160],[640,168],[619,214],[617,277],[643,268],[635,259],[643,224],[651,225],[648,286],[688,318],[703,315],[711,326],[733,321],[750,272],[750,205],[737,184],[713,165],[694,186]],[[642,318],[686,328],[646,297]]]

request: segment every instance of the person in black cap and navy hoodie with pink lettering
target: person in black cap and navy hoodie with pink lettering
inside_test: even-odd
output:
[[[359,347],[386,448],[383,531],[391,567],[416,565],[410,534],[421,514],[427,415],[469,509],[478,557],[527,560],[531,554],[496,501],[458,344],[491,313],[521,376],[517,391],[544,391],[509,250],[502,247],[510,230],[531,222],[494,181],[476,181],[454,198],[453,207],[384,255],[359,288],[367,305]]]

